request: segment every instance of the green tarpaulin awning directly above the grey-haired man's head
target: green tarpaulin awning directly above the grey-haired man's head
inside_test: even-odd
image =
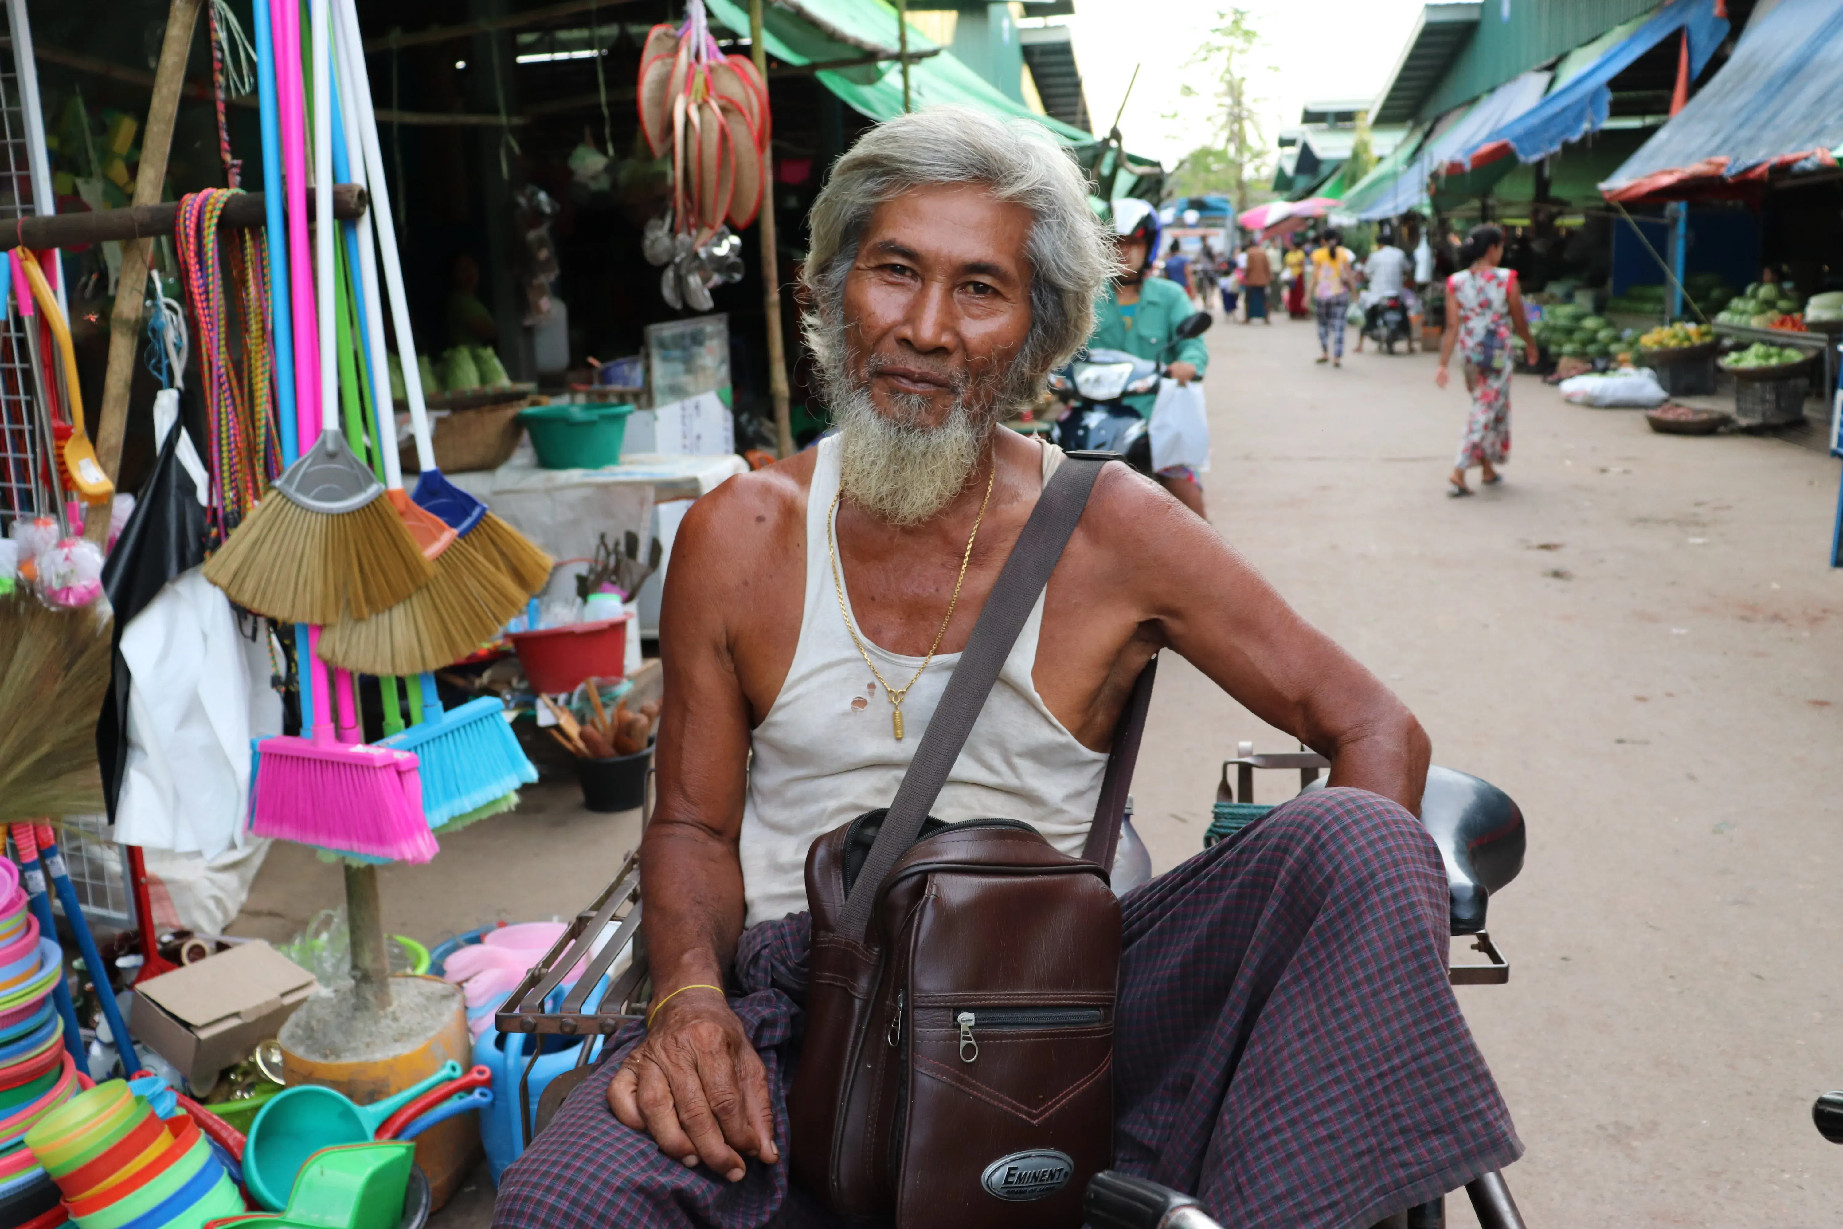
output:
[[[730,29],[748,31],[746,4],[706,0],[706,7],[715,20]],[[826,68],[816,76],[848,107],[872,120],[892,120],[903,114],[903,68],[896,59],[896,9],[885,0],[776,0],[763,6],[761,22],[761,39],[769,55],[789,64],[888,55],[888,59],[851,64],[850,68]],[[914,26],[909,28],[910,53],[938,46]],[[914,111],[934,105],[977,107],[1003,118],[1036,120],[1065,146],[1095,144],[1091,133],[1038,114],[1025,103],[1006,98],[947,50],[909,64],[909,98]]]

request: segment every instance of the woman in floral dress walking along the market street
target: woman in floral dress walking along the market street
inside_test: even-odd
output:
[[[1537,359],[1530,321],[1522,313],[1522,295],[1517,293],[1515,269],[1498,269],[1504,260],[1504,232],[1497,227],[1474,227],[1460,247],[1460,263],[1467,265],[1447,278],[1447,332],[1439,343],[1439,370],[1434,383],[1447,387],[1447,365],[1458,348],[1465,363],[1465,387],[1473,394],[1473,413],[1465,422],[1465,439],[1447,479],[1449,496],[1469,496],[1465,470],[1480,466],[1489,486],[1504,481],[1497,466],[1509,457],[1509,374],[1515,359],[1509,350],[1511,330],[1522,339],[1530,363]]]

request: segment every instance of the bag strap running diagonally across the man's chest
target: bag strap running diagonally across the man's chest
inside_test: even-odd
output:
[[[1004,560],[1004,569],[992,586],[984,610],[979,612],[979,623],[973,625],[960,661],[953,667],[953,678],[942,691],[934,717],[922,735],[922,746],[909,761],[909,772],[903,774],[903,783],[896,789],[896,800],[877,829],[864,866],[844,899],[839,931],[846,938],[863,942],[870,929],[870,910],[875,907],[877,888],[883,886],[903,851],[922,835],[929,807],[934,805],[947,783],[947,774],[960,757],[960,748],[966,746],[973,722],[979,720],[979,711],[986,706],[986,695],[997,682],[1004,658],[1010,656],[1025,619],[1030,617],[1038,593],[1049,584],[1049,575],[1056,569],[1056,560],[1062,558],[1069,534],[1082,520],[1082,509],[1087,507],[1087,496],[1095,488],[1102,464],[1106,464],[1106,457],[1071,453],[1045,483],[1043,494],[1038,496],[1030,520],[1017,534],[1017,544],[1012,547],[1010,558]]]

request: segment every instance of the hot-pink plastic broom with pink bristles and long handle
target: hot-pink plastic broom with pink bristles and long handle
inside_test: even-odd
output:
[[[267,0],[256,0],[264,4]],[[315,265],[308,263],[306,232],[306,114],[300,83],[300,9],[276,4],[275,61],[282,109],[282,153],[288,162],[289,271],[293,273],[293,337],[300,448],[311,448],[326,422],[334,422],[337,391],[334,337],[334,223],[332,223],[332,92],[330,6],[313,0],[313,131]],[[317,273],[319,304],[313,297]],[[317,313],[315,313],[317,308]],[[315,319],[319,315],[319,319]],[[280,322],[278,322],[280,326]],[[326,341],[326,345],[321,345]],[[326,370],[332,367],[334,370]],[[308,669],[313,693],[313,737],[264,739],[256,759],[251,827],[260,837],[361,853],[398,862],[428,862],[439,846],[422,814],[422,781],[417,757],[359,743],[352,700],[352,676],[339,671],[339,733],[334,733],[334,691],[319,656],[319,628],[308,632]]]

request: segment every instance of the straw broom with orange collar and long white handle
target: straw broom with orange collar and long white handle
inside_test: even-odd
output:
[[[352,59],[343,55],[337,64],[341,94],[334,101],[341,107],[337,118],[343,122],[332,125],[335,166],[346,160],[348,147],[358,140],[350,79]],[[369,186],[359,166],[335,173]],[[346,232],[348,256],[358,265],[352,273],[359,291],[359,321],[367,334],[361,345],[370,354],[367,391],[378,413],[376,442],[383,461],[385,486],[398,514],[422,536],[426,553],[435,562],[435,577],[407,601],[389,610],[326,628],[321,638],[321,652],[335,665],[367,674],[415,674],[464,658],[492,639],[507,619],[523,606],[527,593],[518,590],[501,569],[475,549],[455,549],[455,529],[417,507],[402,490],[404,477],[398,466],[394,431],[385,429],[391,391],[383,361],[383,308],[376,298],[378,278],[370,217],[367,216],[356,225],[346,223]],[[407,322],[402,322],[398,337],[407,335]]]

